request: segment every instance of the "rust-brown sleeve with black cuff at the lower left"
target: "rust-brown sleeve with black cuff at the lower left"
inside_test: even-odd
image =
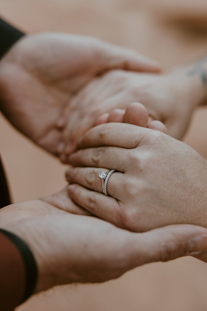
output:
[[[37,265],[28,246],[0,229],[0,310],[13,311],[32,295]]]

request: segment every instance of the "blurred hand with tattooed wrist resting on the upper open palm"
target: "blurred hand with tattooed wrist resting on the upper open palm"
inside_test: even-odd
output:
[[[91,81],[73,99],[73,106],[79,109],[65,128],[65,143],[69,144],[61,159],[67,162],[67,155],[88,128],[106,122],[111,110],[125,109],[133,101],[143,104],[151,119],[163,122],[170,136],[181,139],[192,111],[207,97],[199,77],[188,76],[188,70],[187,67],[162,75],[114,70]],[[104,115],[99,117],[100,114]],[[78,128],[73,136],[71,127]]]

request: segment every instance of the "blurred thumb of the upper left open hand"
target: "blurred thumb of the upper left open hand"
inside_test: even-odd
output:
[[[117,45],[103,43],[102,47],[102,71],[110,69],[124,69],[141,72],[160,72],[160,64],[134,50],[119,47]]]

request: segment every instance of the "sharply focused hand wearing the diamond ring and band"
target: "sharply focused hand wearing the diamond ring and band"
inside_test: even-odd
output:
[[[123,123],[88,130],[80,147],[66,173],[79,206],[132,231],[178,223],[207,227],[207,161],[191,147]],[[106,197],[98,175],[111,169],[118,172],[109,178]]]

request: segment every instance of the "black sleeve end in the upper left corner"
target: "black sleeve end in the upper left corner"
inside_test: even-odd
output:
[[[0,18],[0,58],[25,34]]]

